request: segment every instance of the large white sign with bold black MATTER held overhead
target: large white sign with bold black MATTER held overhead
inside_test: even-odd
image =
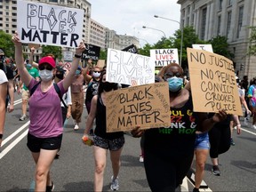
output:
[[[84,10],[17,1],[17,31],[22,43],[77,47],[82,41]]]

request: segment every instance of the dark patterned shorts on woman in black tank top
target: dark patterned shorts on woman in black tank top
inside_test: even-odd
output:
[[[93,136],[93,142],[94,146],[100,147],[100,148],[105,148],[111,150],[111,151],[116,151],[120,148],[123,148],[124,146],[124,136],[114,139],[114,140],[106,140],[103,138],[100,138],[97,135]]]

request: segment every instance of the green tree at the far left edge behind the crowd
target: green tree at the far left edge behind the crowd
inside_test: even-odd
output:
[[[0,31],[0,48],[3,49],[6,57],[14,58],[14,44],[12,43],[12,36]]]

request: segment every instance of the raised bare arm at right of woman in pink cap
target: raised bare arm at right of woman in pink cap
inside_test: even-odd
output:
[[[81,59],[82,52],[84,52],[84,49],[85,49],[84,42],[81,42],[79,44],[79,46],[76,48],[76,53],[75,53],[75,57],[72,61],[71,68],[68,72],[68,75],[63,80],[63,87],[65,90],[68,90],[68,87],[72,84],[72,80],[75,76],[76,69],[78,68],[78,64]]]

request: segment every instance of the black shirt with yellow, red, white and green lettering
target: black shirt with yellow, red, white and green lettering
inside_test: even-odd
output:
[[[192,97],[181,108],[170,109],[171,126],[153,128],[145,132],[145,150],[156,156],[173,159],[186,158],[194,153],[198,117],[193,112]]]

